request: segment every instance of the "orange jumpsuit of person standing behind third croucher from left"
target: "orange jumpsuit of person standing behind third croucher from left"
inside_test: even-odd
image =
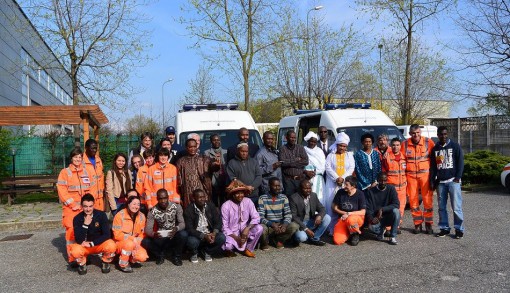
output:
[[[177,192],[177,168],[167,163],[162,167],[158,162],[149,167],[147,177],[145,178],[144,187],[146,192],[150,193],[150,201],[147,201],[149,209],[158,203],[157,192],[164,188],[168,192],[168,199],[176,204],[181,202],[181,196]]]

